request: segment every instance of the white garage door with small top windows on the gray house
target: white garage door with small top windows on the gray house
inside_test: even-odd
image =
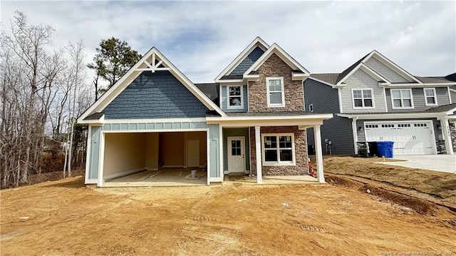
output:
[[[364,122],[366,141],[394,141],[394,155],[435,154],[432,121]]]

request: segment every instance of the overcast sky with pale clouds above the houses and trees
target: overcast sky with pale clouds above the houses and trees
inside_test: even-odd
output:
[[[194,83],[214,78],[260,36],[311,73],[340,73],[373,49],[416,76],[456,71],[455,1],[1,1],[51,25],[55,46],[82,40],[87,61],[115,36],[156,46]]]

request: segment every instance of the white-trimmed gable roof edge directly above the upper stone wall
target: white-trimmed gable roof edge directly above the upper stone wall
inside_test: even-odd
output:
[[[282,61],[284,61],[288,66],[294,69],[295,72],[301,72],[304,73],[306,76],[310,76],[309,71],[306,70],[301,64],[296,61],[294,58],[292,58],[289,53],[284,51],[277,43],[273,43],[269,49],[264,52],[264,54],[257,60],[253,65],[245,71],[244,76],[250,75],[252,71],[257,71],[258,68],[263,65],[263,63],[270,57],[272,54],[276,54],[281,58]]]

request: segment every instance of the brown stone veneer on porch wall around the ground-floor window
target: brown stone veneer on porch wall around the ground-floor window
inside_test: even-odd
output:
[[[299,130],[298,126],[269,126],[261,127],[260,133],[294,133],[294,158],[296,158],[296,165],[278,165],[278,166],[264,166],[262,165],[262,173],[264,176],[276,175],[309,175],[309,164],[307,163],[307,142],[306,130]],[[250,169],[252,174],[257,174],[257,151],[255,148],[255,128],[250,128],[250,155],[251,163]],[[263,142],[261,141],[261,148]],[[263,155],[263,152],[261,152]],[[260,160],[261,161],[261,160]]]

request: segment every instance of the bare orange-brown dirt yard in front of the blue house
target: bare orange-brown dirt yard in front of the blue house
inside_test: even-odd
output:
[[[456,255],[455,213],[356,183],[96,189],[78,177],[0,196],[1,255]]]

